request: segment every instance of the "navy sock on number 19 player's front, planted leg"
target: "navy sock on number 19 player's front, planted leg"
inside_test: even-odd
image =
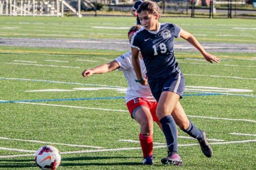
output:
[[[160,120],[163,132],[170,152],[178,152],[177,127],[171,115],[165,116]]]

